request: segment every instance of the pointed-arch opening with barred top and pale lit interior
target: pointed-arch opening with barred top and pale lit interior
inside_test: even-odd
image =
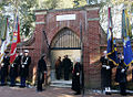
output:
[[[55,80],[55,61],[59,56],[63,60],[64,55],[68,55],[73,64],[76,57],[81,57],[80,37],[68,28],[60,30],[51,43],[51,80]],[[61,75],[63,79],[63,68]]]

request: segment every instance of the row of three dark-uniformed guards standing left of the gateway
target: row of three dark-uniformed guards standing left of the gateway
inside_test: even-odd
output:
[[[20,87],[25,87],[25,79],[29,75],[30,63],[31,57],[29,56],[28,50],[24,50],[24,54],[17,53],[16,60],[12,64],[10,64],[9,52],[6,52],[0,69],[1,86],[7,85],[8,76],[10,77],[10,86],[16,86],[16,79],[20,76]]]

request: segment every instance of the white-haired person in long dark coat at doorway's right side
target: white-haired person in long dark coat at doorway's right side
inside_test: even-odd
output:
[[[80,61],[78,60],[72,71],[72,90],[76,91],[75,95],[81,94],[80,76],[81,76],[81,64]]]

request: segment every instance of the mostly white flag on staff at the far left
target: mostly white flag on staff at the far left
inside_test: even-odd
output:
[[[11,40],[8,18],[6,20],[7,20],[6,21],[6,30],[3,30],[6,33],[6,36],[4,36],[6,40],[3,40],[2,45],[1,45],[0,63],[2,63],[2,61],[3,61],[4,52],[7,51],[7,47],[10,44],[10,40]]]

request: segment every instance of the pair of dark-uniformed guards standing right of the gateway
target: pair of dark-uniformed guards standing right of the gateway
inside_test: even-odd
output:
[[[111,95],[111,80],[112,80],[112,68],[115,67],[112,61],[108,58],[108,52],[103,52],[101,57],[101,85],[102,89],[106,95]],[[126,71],[127,66],[124,65],[124,56],[119,53],[119,66],[116,67],[115,82],[119,83],[121,95],[126,95]]]

